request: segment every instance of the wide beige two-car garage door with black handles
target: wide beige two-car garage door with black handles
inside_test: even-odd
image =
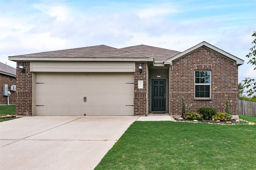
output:
[[[36,73],[36,115],[134,115],[133,73]]]

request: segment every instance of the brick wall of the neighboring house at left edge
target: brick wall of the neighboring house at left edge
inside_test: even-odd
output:
[[[8,104],[7,96],[3,96],[3,84],[8,84],[8,91],[10,91],[10,86],[16,85],[16,77],[8,76],[6,74],[0,74],[0,105]],[[16,92],[10,91],[9,104],[16,103]]]

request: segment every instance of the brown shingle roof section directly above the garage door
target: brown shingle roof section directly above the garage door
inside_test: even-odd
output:
[[[27,55],[17,55],[12,57],[67,57],[67,58],[147,58],[143,55],[127,53],[114,47],[106,45],[96,45],[91,47],[82,47],[76,49],[66,49],[59,51],[50,51],[34,53]]]

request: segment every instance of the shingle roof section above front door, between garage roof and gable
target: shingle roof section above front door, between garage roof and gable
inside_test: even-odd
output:
[[[179,54],[179,51],[173,51],[168,49],[162,49],[158,47],[152,47],[148,45],[136,45],[132,47],[121,48],[120,50],[127,51],[138,55],[144,55],[148,58],[154,57],[155,61],[165,61],[174,55]]]

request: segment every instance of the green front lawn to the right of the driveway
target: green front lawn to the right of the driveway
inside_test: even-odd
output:
[[[256,125],[135,121],[95,170],[255,170],[255,141]]]

